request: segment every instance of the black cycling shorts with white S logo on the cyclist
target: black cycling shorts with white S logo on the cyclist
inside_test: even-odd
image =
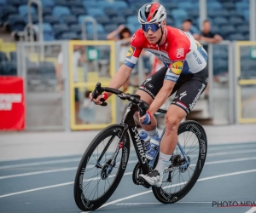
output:
[[[162,67],[158,72],[155,72],[154,75],[148,77],[139,89],[148,93],[148,95],[154,99],[163,86],[167,69],[166,66]],[[172,95],[177,92],[172,104],[183,108],[183,110],[189,114],[202,92],[206,89],[207,83],[207,67],[195,74],[180,75],[170,94]]]

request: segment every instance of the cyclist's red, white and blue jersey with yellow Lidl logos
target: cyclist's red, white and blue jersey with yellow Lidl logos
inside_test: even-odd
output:
[[[194,37],[172,26],[166,26],[164,41],[151,44],[139,29],[131,39],[125,65],[133,68],[142,50],[148,50],[162,60],[168,70],[166,80],[177,82],[179,75],[200,72],[207,66],[207,52]]]

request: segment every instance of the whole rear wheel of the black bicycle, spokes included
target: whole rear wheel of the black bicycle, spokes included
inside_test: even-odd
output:
[[[184,167],[183,153],[177,146],[166,167],[161,187],[152,187],[154,197],[163,204],[172,204],[189,193],[201,174],[207,158],[207,135],[201,124],[185,121],[178,130],[178,142],[189,159]]]

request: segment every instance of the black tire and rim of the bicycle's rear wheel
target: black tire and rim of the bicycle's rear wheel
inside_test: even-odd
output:
[[[181,135],[186,130],[191,130],[192,128],[194,130],[197,130],[196,137],[199,141],[199,154],[198,154],[198,160],[195,165],[195,172],[193,176],[191,176],[190,180],[187,181],[185,184],[183,184],[184,187],[176,193],[166,193],[164,189],[168,187],[163,187],[163,185],[161,187],[152,187],[154,197],[163,204],[172,204],[177,202],[180,199],[183,199],[183,197],[187,193],[189,193],[192,187],[194,187],[195,182],[198,180],[199,176],[201,175],[201,170],[203,169],[206,158],[207,158],[207,135],[205,130],[203,129],[201,124],[199,124],[198,122],[185,121],[179,125],[177,130],[177,135]],[[157,163],[157,161],[155,163]],[[154,164],[154,167],[155,166],[156,164]]]

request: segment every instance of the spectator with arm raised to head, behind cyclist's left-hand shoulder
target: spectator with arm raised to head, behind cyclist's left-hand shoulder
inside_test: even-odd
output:
[[[120,51],[119,51],[119,63],[120,66],[125,62],[126,53],[129,49],[130,42],[131,42],[131,31],[129,28],[125,27],[124,25],[120,25],[116,30],[113,32],[110,32],[107,36],[108,40],[114,40],[114,41],[126,41],[126,43],[122,43],[120,45]],[[123,91],[125,92],[126,89],[129,87],[130,81],[127,80],[127,82],[123,85]]]

